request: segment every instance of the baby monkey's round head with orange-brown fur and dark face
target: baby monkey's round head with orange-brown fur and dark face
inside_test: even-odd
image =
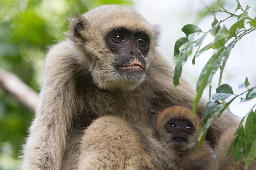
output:
[[[196,147],[199,122],[199,117],[192,117],[190,109],[171,106],[157,115],[155,125],[158,137],[166,146],[185,151]]]

